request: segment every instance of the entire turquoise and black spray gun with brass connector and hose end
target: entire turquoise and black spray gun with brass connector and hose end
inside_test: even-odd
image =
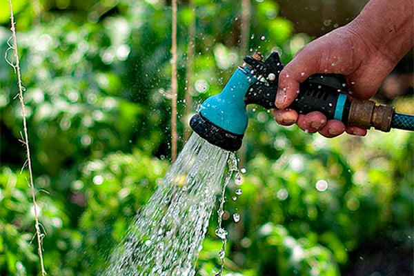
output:
[[[236,151],[242,146],[248,124],[246,106],[256,103],[276,108],[280,71],[284,68],[277,52],[266,61],[260,53],[244,58],[218,95],[209,97],[190,119],[190,126],[210,144]],[[351,99],[343,75],[316,74],[301,83],[299,94],[288,107],[299,114],[322,112],[327,119],[337,119],[346,126],[359,126],[388,132],[391,128],[414,130],[414,115],[395,112],[393,106],[377,105],[375,101]]]

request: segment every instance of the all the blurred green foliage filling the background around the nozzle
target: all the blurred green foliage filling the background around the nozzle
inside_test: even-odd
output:
[[[160,159],[170,152],[171,10],[163,1],[40,4],[36,14],[28,1],[13,1],[45,265],[48,275],[91,275],[168,169]],[[187,28],[196,20],[193,110],[223,88],[244,55],[278,50],[287,62],[311,40],[293,33],[277,3],[255,1],[250,52],[240,53],[239,1],[195,4],[195,12],[179,4],[178,25],[182,99]],[[8,18],[0,10],[0,50],[12,62]],[[37,275],[16,83],[3,60],[0,275]],[[181,133],[184,107],[180,101]],[[226,190],[225,275],[340,275],[363,245],[412,252],[412,133],[324,139],[278,126],[259,107],[249,108],[249,117],[244,181]],[[213,213],[197,275],[219,268],[215,227]]]

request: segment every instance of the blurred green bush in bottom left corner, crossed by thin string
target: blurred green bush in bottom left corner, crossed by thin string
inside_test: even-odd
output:
[[[34,245],[34,212],[31,192],[28,188],[28,175],[13,172],[5,167],[0,170],[0,271],[14,275],[30,275],[37,271],[39,256]],[[39,178],[37,186],[49,190],[45,179]],[[59,255],[64,244],[68,224],[62,200],[55,193],[50,195],[39,190],[37,193],[41,230],[46,234],[44,248],[48,255]],[[60,262],[61,259],[58,259]],[[52,258],[46,259],[52,265]]]

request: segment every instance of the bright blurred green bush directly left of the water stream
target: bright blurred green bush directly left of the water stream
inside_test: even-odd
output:
[[[165,161],[137,151],[132,155],[115,152],[84,164],[81,177],[71,185],[72,195],[82,207],[77,218],[81,248],[72,249],[73,257],[63,267],[76,268],[79,275],[99,271],[166,168]],[[86,254],[77,254],[79,249]]]

